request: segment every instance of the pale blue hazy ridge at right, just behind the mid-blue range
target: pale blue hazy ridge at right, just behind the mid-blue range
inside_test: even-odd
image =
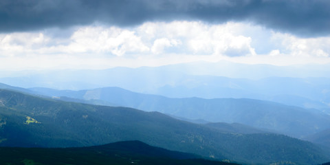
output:
[[[190,76],[148,93],[170,98],[253,98],[329,111],[329,91],[330,78],[270,77],[249,80],[218,76]]]

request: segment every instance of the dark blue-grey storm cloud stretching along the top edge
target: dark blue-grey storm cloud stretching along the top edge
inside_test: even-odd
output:
[[[145,21],[248,21],[300,36],[330,34],[327,0],[1,0],[0,31],[67,28],[99,21],[131,26]]]

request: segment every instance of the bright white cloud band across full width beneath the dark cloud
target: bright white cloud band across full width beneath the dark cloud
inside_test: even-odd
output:
[[[330,63],[330,37],[300,39],[247,23],[94,25],[57,38],[50,32],[0,34],[0,67],[137,67],[223,59],[274,65]]]

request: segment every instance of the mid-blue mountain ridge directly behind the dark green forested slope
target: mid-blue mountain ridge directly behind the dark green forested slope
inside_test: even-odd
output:
[[[156,95],[148,95],[148,94],[138,94],[132,91],[128,91],[125,89],[120,89],[118,87],[107,87],[102,89],[91,89],[91,90],[81,90],[81,91],[70,91],[70,90],[56,90],[56,89],[47,89],[47,88],[32,88],[32,89],[24,89],[20,87],[12,87],[10,85],[0,84],[0,88],[3,89],[12,89],[16,91],[22,91],[28,94],[36,94],[40,96],[51,96],[58,100],[65,100],[69,102],[82,102],[87,104],[101,104],[108,106],[122,106],[122,107],[133,107],[136,109],[142,109],[144,111],[160,111],[162,113],[166,113],[174,118],[178,118],[180,120],[186,120],[189,122],[197,122],[197,123],[208,123],[210,120],[210,115],[195,115],[198,116],[199,119],[192,119],[191,116],[187,114],[198,113],[200,109],[203,109],[203,113],[206,111],[215,111],[218,107],[218,104],[214,104],[214,102],[221,102],[221,100],[236,100],[236,102],[231,102],[231,104],[244,104],[242,100],[248,101],[248,105],[242,107],[237,107],[239,113],[236,112],[236,116],[239,116],[242,109],[247,109],[248,107],[262,107],[264,111],[268,111],[267,113],[272,113],[272,109],[281,109],[278,115],[268,115],[271,116],[272,120],[264,120],[265,122],[277,121],[279,124],[286,126],[293,131],[283,131],[283,127],[266,127],[267,124],[263,125],[253,125],[258,127],[259,129],[254,129],[251,126],[240,125],[237,122],[245,123],[248,125],[252,125],[251,122],[244,122],[245,120],[232,120],[232,116],[228,116],[228,114],[224,114],[227,118],[223,118],[223,120],[212,121],[212,122],[236,122],[234,124],[221,123],[221,129],[225,129],[225,131],[232,130],[241,130],[240,133],[244,132],[276,132],[276,133],[286,133],[288,135],[300,137],[303,140],[309,140],[311,142],[315,142],[317,144],[321,144],[322,146],[329,146],[330,137],[327,136],[329,131],[323,130],[324,128],[328,128],[327,122],[325,124],[320,124],[321,126],[316,125],[320,123],[320,121],[326,121],[327,115],[318,113],[314,109],[301,109],[298,107],[290,107],[285,106],[283,104],[276,104],[275,102],[265,102],[262,100],[250,100],[250,99],[212,99],[213,102],[210,102],[208,99],[201,98],[166,98],[164,96],[156,96]],[[195,106],[195,104],[203,104],[201,106]],[[251,106],[253,105],[253,106]],[[222,106],[223,107],[223,106]],[[227,106],[228,107],[228,106]],[[230,107],[230,106],[229,106]],[[300,110],[299,113],[294,110]],[[227,111],[232,111],[233,108],[227,109]],[[234,109],[235,110],[235,109]],[[174,113],[173,113],[174,111]],[[185,111],[191,111],[192,113],[186,113]],[[284,112],[283,112],[284,111]],[[300,114],[303,112],[305,115]],[[263,118],[259,111],[255,111],[253,108],[250,108],[248,113],[255,113],[254,116],[258,116],[258,118],[247,118],[252,122],[260,120]],[[274,112],[273,112],[274,113]],[[291,113],[291,114],[290,114]],[[312,113],[312,114],[311,114]],[[287,118],[283,118],[282,115],[285,114]],[[296,115],[300,114],[300,115]],[[184,116],[184,117],[182,117]],[[209,121],[201,120],[201,117],[206,116]],[[211,117],[214,118],[212,114]],[[241,115],[241,118],[244,118],[246,115]],[[297,119],[289,118],[289,117],[298,117]],[[221,118],[221,116],[220,116]],[[204,118],[205,119],[205,118]],[[300,121],[300,122],[299,122]],[[308,122],[305,122],[308,121]],[[298,124],[293,125],[292,123],[298,122]],[[303,123],[300,124],[299,123]],[[216,124],[216,123],[215,123]],[[305,125],[304,125],[305,124]],[[277,124],[278,126],[278,124]],[[322,129],[323,126],[323,129]],[[309,129],[308,129],[309,128]],[[321,128],[321,129],[320,129]],[[296,133],[296,134],[294,134]],[[309,135],[307,135],[309,134]],[[303,136],[302,136],[303,135]]]

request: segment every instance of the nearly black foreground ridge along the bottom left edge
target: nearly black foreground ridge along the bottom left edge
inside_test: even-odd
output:
[[[1,148],[1,164],[196,164],[225,165],[197,155],[168,151],[140,141],[83,148]],[[234,164],[233,164],[234,165]]]

